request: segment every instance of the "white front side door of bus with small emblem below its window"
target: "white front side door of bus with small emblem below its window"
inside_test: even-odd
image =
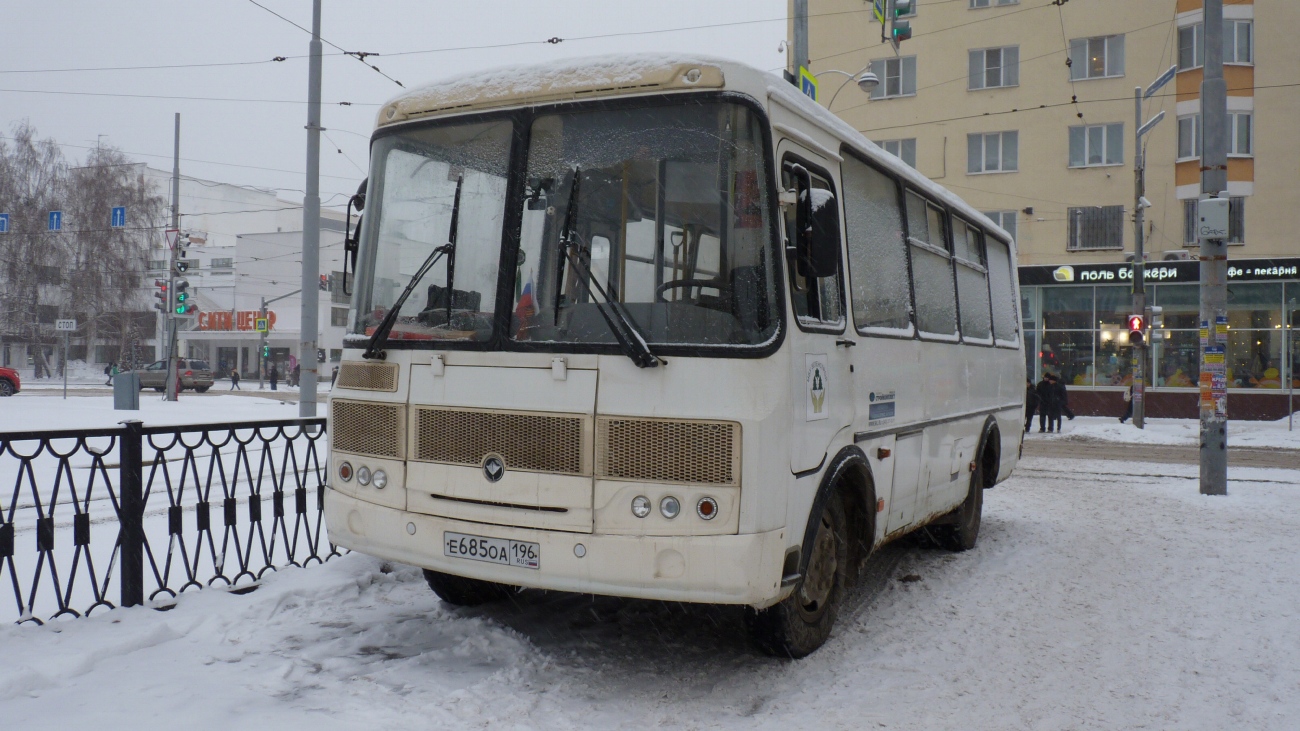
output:
[[[796,326],[790,328],[790,471],[827,460],[836,433],[853,423],[854,379],[845,339],[844,242],[832,164],[781,140],[785,268]]]

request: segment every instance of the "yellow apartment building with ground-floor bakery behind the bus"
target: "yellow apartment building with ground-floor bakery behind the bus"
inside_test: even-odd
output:
[[[1277,418],[1300,359],[1300,1],[1223,0],[1223,16],[1230,415]],[[1165,113],[1144,138],[1148,303],[1165,320],[1147,412],[1196,416],[1202,0],[918,0],[907,20],[896,52],[870,0],[809,0],[818,101],[1014,235],[1030,372],[1061,375],[1083,412],[1123,410],[1134,90],[1176,66],[1141,112]],[[864,70],[870,95],[850,79]]]

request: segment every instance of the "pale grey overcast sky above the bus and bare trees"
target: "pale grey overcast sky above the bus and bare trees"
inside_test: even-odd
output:
[[[257,1],[311,27],[311,0]],[[378,53],[369,61],[407,87],[503,64],[638,51],[710,53],[780,69],[785,9],[785,0],[325,0],[322,203],[342,206],[356,189],[376,109],[402,91],[330,43]],[[645,33],[696,26],[708,27]],[[598,35],[604,38],[582,38]],[[254,3],[12,1],[0,13],[0,38],[4,137],[27,120],[40,137],[62,143],[70,161],[103,139],[169,170],[179,112],[182,173],[302,199],[309,35]],[[566,40],[545,43],[550,38]],[[465,48],[484,46],[498,48]],[[394,53],[403,55],[386,56]],[[269,61],[276,56],[287,59]],[[49,70],[186,64],[240,65]]]

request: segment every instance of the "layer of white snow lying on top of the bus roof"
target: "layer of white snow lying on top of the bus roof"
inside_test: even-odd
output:
[[[959,211],[985,229],[998,232],[1002,238],[1011,239],[1010,234],[989,220],[988,216],[984,216],[958,195],[920,174],[898,157],[885,152],[864,134],[853,129],[852,125],[832,114],[816,101],[809,99],[798,88],[786,83],[785,79],[741,61],[718,56],[680,53],[577,56],[556,59],[543,64],[516,64],[458,74],[421,85],[389,99],[380,108],[377,126],[382,126],[390,121],[385,120],[384,116],[387,109],[395,108],[394,105],[399,105],[408,113],[421,113],[424,111],[450,108],[459,104],[471,105],[474,100],[517,99],[523,101],[525,98],[538,94],[636,85],[641,79],[663,74],[670,69],[686,64],[715,66],[722,69],[724,74],[734,74],[732,77],[733,82],[738,81],[736,77],[749,77],[744,81],[751,82],[755,86],[766,83],[770,98],[780,100],[785,107],[790,107],[811,121],[824,126],[850,147],[857,148],[858,152],[888,168],[910,186],[926,193],[949,208]]]

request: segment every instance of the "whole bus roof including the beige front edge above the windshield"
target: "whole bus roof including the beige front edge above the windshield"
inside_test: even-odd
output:
[[[712,56],[621,53],[560,59],[543,64],[499,66],[434,81],[412,88],[380,108],[376,127],[439,114],[459,114],[540,103],[577,101],[602,96],[723,90],[750,94],[800,113],[844,144],[889,169],[907,185],[978,221],[987,230],[1011,237],[965,200],[885,152],[785,79]]]

